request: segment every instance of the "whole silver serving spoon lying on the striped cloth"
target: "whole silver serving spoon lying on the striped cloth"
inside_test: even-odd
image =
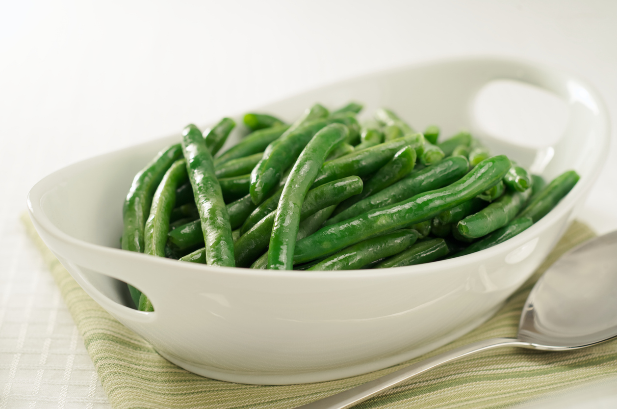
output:
[[[529,293],[516,338],[453,349],[296,409],[346,409],[437,366],[497,347],[568,351],[617,337],[617,231],[568,251]]]

